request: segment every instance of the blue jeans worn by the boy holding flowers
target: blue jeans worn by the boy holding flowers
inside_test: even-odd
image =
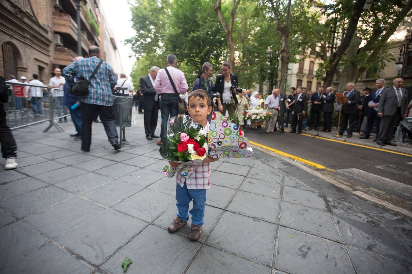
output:
[[[192,215],[192,225],[201,226],[204,224],[203,216],[205,214],[207,189],[187,189],[186,181],[183,187],[176,183],[176,207],[178,213],[176,214],[181,220],[187,222],[189,220],[189,203],[193,200],[193,208],[190,210]]]

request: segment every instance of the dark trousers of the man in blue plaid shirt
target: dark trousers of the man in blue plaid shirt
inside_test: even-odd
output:
[[[96,111],[100,115],[100,120],[103,123],[109,142],[117,142],[119,136],[117,135],[114,106],[81,103],[80,110],[82,111],[82,148],[84,150],[90,149],[91,124]]]

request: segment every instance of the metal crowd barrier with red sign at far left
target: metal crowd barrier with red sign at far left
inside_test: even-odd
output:
[[[46,127],[46,129],[44,129],[43,132],[48,131],[52,126],[56,127],[57,131],[59,132],[64,131],[55,121],[55,119],[59,117],[54,118],[54,99],[47,86],[14,83],[9,81],[6,81],[6,84],[10,85],[10,88],[8,90],[9,101],[7,103],[3,103],[3,106],[7,114],[7,124],[9,125],[11,130],[49,122],[49,125]],[[40,99],[39,97],[30,98],[26,97],[26,87],[41,87],[45,90],[43,91],[42,97],[40,97]],[[29,104],[32,105],[33,113],[30,113]],[[33,104],[35,105],[33,106]],[[34,113],[35,109],[38,110],[41,115]],[[66,116],[68,115],[64,115],[62,117]]]

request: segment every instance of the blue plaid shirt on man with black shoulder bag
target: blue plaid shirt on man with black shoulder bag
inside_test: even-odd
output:
[[[95,56],[78,60],[65,67],[62,74],[66,78],[66,82],[71,85],[74,77],[89,79],[99,62],[100,59]],[[112,106],[112,87],[116,83],[117,75],[115,71],[113,71],[110,64],[103,61],[94,77],[90,80],[89,93],[86,96],[79,96],[79,99],[82,103],[86,104]]]

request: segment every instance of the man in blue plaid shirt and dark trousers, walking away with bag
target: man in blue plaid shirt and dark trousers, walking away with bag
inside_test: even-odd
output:
[[[89,79],[94,69],[100,62],[100,49],[97,46],[89,47],[89,58],[77,60],[63,69],[63,76],[68,85],[71,85],[74,78]],[[115,123],[115,110],[113,107],[112,89],[117,83],[117,76],[112,67],[103,61],[90,80],[89,93],[80,96],[80,110],[82,112],[82,150],[90,151],[91,145],[91,124],[94,113],[97,111],[103,122],[109,142],[115,150],[120,149],[118,143]]]

